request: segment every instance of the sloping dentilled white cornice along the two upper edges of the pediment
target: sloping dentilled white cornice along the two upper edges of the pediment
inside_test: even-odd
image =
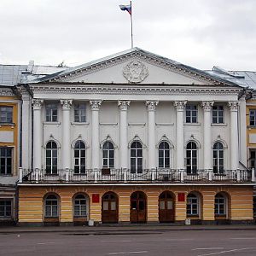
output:
[[[126,61],[144,61],[148,64],[154,65],[156,67],[164,68],[168,71],[172,71],[174,73],[181,74],[189,79],[195,79],[197,81],[207,83],[207,84],[224,84],[223,82],[220,82],[218,79],[211,78],[210,75],[207,74],[201,74],[197,72],[196,70],[189,69],[189,67],[185,67],[182,64],[175,64],[171,63],[170,61],[164,61],[163,59],[157,58],[156,56],[150,56],[143,52],[132,52],[130,54],[126,55],[120,55],[118,57],[109,59],[107,61],[102,61],[87,67],[83,67],[79,70],[75,70],[71,73],[63,74],[60,77],[56,77],[55,79],[49,79],[49,82],[51,81],[71,81],[72,79],[76,78],[79,79],[84,75],[90,74],[90,73],[96,73],[98,71],[104,70],[109,67],[113,67],[116,65],[119,65],[120,63],[124,63]],[[122,72],[120,70],[120,72]],[[228,84],[228,81],[227,81]]]

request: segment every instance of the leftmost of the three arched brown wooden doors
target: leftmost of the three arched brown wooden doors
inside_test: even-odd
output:
[[[108,192],[102,196],[102,223],[117,223],[118,197],[113,192]]]

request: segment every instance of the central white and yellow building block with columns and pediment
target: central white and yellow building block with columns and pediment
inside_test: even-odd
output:
[[[252,220],[242,87],[138,48],[26,81],[20,223]]]

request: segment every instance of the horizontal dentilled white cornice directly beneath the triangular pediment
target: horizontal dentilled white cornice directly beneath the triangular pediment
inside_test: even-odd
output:
[[[143,84],[143,86],[129,86],[131,84],[119,85],[119,86],[109,86],[109,85],[65,85],[65,84],[55,84],[55,86],[48,84],[38,84],[32,85],[31,89],[35,93],[42,94],[52,94],[52,93],[62,93],[62,94],[118,94],[118,95],[237,95],[241,89],[226,86],[224,88],[214,88],[207,86],[148,86]]]

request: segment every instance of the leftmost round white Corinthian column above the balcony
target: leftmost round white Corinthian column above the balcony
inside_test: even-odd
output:
[[[33,167],[34,169],[42,168],[42,119],[41,107],[43,100],[32,99],[33,105]],[[23,154],[26,154],[23,152]]]

